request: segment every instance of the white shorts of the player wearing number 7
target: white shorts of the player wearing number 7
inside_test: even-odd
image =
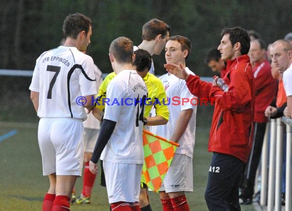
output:
[[[83,166],[83,124],[74,118],[41,118],[38,145],[43,175],[81,176]]]

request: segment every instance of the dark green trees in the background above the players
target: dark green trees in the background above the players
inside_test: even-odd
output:
[[[33,70],[36,58],[59,45],[62,23],[80,12],[94,22],[89,55],[104,73],[111,72],[108,49],[118,36],[141,42],[142,26],[153,17],[171,26],[171,35],[192,41],[187,65],[198,75],[212,76],[203,63],[205,53],[220,42],[224,27],[241,26],[259,32],[266,43],[292,31],[292,1],[162,1],[162,0],[10,0],[0,8],[0,69]],[[154,56],[155,70],[163,74],[163,52]]]

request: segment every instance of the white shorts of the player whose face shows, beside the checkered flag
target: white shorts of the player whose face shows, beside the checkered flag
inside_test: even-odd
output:
[[[193,192],[193,159],[183,154],[175,154],[159,191]]]

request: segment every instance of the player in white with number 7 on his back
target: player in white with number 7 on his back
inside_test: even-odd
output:
[[[43,174],[50,180],[43,210],[70,209],[72,188],[82,172],[84,107],[91,111],[91,98],[96,93],[93,60],[80,52],[90,44],[91,19],[80,13],[69,14],[63,31],[64,46],[37,58],[29,88],[40,118]]]

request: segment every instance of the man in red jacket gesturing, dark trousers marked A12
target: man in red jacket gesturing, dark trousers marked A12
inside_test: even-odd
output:
[[[209,210],[240,210],[239,183],[253,142],[255,111],[255,81],[249,57],[251,39],[240,28],[222,31],[218,50],[227,61],[223,78],[228,90],[223,92],[217,84],[201,81],[188,74],[181,64],[166,64],[168,71],[181,79],[193,95],[216,98],[208,151],[213,158],[208,174],[205,200]]]

